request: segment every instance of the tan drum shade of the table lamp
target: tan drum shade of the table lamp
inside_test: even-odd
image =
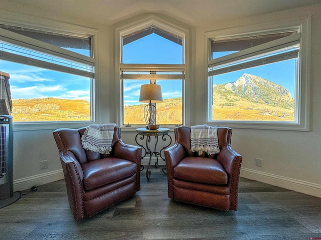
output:
[[[143,84],[140,86],[140,102],[160,102],[163,101],[161,85]]]

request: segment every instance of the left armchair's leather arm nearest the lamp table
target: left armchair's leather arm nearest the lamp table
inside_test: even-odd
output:
[[[113,146],[112,154],[114,157],[133,161],[140,165],[142,147],[125,144],[117,141]]]

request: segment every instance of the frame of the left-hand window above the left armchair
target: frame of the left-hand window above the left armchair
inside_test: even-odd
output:
[[[15,122],[14,121],[14,130],[21,131],[21,130],[39,130],[39,129],[57,129],[60,127],[83,127],[88,124],[93,124],[96,122],[96,110],[95,110],[95,102],[96,102],[96,84],[95,81],[98,78],[98,72],[96,64],[95,64],[95,55],[97,53],[96,45],[97,45],[97,34],[98,30],[89,28],[89,27],[83,27],[79,25],[73,25],[69,23],[62,23],[57,21],[51,21],[46,19],[40,19],[38,17],[29,17],[26,21],[26,18],[24,15],[8,15],[6,11],[1,11],[4,13],[3,19],[0,20],[0,24],[5,25],[11,25],[15,27],[25,27],[25,28],[31,28],[31,29],[38,29],[41,31],[49,31],[49,32],[59,32],[62,34],[69,34],[69,35],[76,35],[81,37],[91,37],[91,54],[92,57],[88,57],[85,55],[81,55],[76,52],[72,52],[69,50],[66,50],[64,48],[54,46],[52,44],[33,39],[31,37],[27,37],[9,30],[1,29],[2,36],[4,36],[4,40],[8,41],[14,44],[20,44],[25,47],[29,47],[35,50],[41,50],[43,52],[46,52],[46,49],[48,49],[48,52],[52,53],[55,52],[57,56],[68,56],[70,59],[76,59],[78,61],[88,61],[92,62],[95,67],[95,76],[94,78],[91,78],[90,80],[90,108],[91,108],[91,120],[90,121],[29,121],[29,122]],[[35,23],[37,22],[37,24]],[[83,59],[83,60],[82,60]]]

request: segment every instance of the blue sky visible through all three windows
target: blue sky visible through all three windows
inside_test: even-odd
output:
[[[0,43],[1,44],[1,43]],[[156,46],[156,47],[155,47]],[[183,48],[154,33],[128,43],[123,47],[123,63],[183,63]],[[275,63],[274,63],[275,64]],[[294,96],[294,60],[287,60],[261,67],[249,68],[217,75],[213,84],[222,84],[237,80],[243,73],[257,75],[283,85]],[[12,98],[59,97],[69,99],[89,98],[90,79],[54,70],[0,60],[0,71],[10,74]],[[193,80],[193,79],[192,79]],[[207,79],[204,79],[207,80]],[[124,104],[138,102],[140,85],[148,80],[126,80],[124,83]],[[157,80],[162,86],[163,98],[182,96],[181,80]]]

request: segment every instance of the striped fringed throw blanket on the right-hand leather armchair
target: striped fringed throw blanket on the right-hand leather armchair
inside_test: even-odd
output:
[[[198,151],[199,155],[203,151],[208,154],[219,153],[217,127],[208,125],[191,126],[191,151]]]

